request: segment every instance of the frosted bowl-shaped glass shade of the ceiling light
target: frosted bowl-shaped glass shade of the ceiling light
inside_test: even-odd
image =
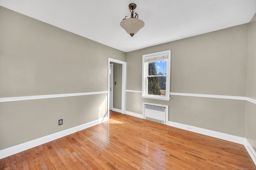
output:
[[[137,18],[127,18],[120,22],[120,26],[124,28],[130,36],[134,36],[144,25],[145,23]]]

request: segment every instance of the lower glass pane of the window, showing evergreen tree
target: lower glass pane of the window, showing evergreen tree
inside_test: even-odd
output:
[[[148,77],[148,95],[166,96],[166,77]]]

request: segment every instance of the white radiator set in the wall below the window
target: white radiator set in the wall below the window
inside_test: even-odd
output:
[[[145,119],[156,123],[166,124],[166,107],[144,105]]]

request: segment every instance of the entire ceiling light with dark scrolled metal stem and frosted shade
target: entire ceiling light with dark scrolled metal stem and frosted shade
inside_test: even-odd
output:
[[[120,26],[124,28],[124,30],[126,30],[126,32],[130,34],[130,36],[134,36],[134,34],[136,34],[145,25],[142,20],[138,19],[139,15],[136,12],[134,16],[134,10],[136,7],[137,5],[134,3],[129,4],[131,18],[126,18],[127,16],[125,16],[125,18],[120,22]]]

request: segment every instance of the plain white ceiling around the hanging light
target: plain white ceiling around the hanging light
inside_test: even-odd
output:
[[[132,38],[120,27],[128,4],[145,22]],[[250,22],[256,0],[0,0],[0,6],[124,52]]]

